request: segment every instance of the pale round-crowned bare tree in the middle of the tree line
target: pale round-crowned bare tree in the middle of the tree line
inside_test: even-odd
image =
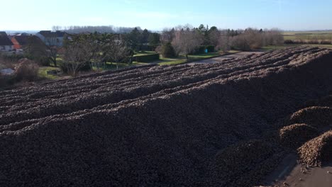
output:
[[[194,52],[203,41],[203,36],[197,30],[182,28],[182,30],[175,31],[175,38],[172,41],[172,45],[177,54],[182,53],[188,61],[188,55]]]

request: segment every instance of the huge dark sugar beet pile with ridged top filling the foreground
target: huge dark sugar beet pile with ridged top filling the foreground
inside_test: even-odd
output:
[[[332,50],[294,47],[1,91],[0,186],[254,186],[283,147],[319,164],[331,72]]]

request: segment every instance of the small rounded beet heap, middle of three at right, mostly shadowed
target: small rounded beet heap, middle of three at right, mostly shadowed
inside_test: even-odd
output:
[[[306,124],[289,125],[282,128],[279,133],[282,145],[292,148],[298,148],[318,135],[316,128]]]

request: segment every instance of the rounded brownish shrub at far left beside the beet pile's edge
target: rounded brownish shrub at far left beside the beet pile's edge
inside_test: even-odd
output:
[[[26,58],[18,60],[15,67],[16,80],[34,81],[38,77],[39,66],[35,62]]]

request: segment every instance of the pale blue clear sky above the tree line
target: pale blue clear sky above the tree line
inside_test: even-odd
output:
[[[1,7],[0,30],[110,25],[162,30],[187,23],[234,29],[332,29],[331,0],[7,0]]]

